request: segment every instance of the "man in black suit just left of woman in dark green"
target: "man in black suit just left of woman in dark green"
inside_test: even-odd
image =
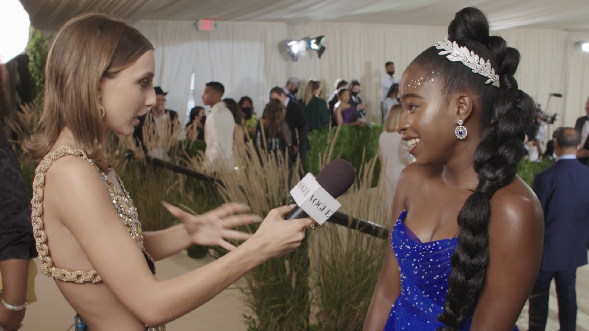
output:
[[[300,163],[303,166],[303,172],[305,172],[305,159],[307,151],[310,149],[309,139],[307,138],[307,134],[309,133],[309,123],[307,123],[305,111],[298,102],[290,100],[280,87],[274,87],[270,90],[270,99],[280,100],[284,105],[284,108],[286,108],[284,120],[286,120],[286,123],[289,125],[293,145],[299,150]],[[298,140],[297,132],[299,136]]]

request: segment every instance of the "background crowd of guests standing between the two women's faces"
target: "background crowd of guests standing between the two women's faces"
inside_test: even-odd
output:
[[[382,79],[383,91],[386,90],[382,98],[383,120],[388,110],[399,104],[398,81],[392,77],[394,64],[387,62],[385,68],[387,74]],[[204,88],[202,100],[204,106],[211,107],[211,111],[208,116],[204,107],[197,106],[190,111],[184,130],[186,138],[206,143],[206,167],[211,170],[216,170],[220,161],[233,167],[234,154],[246,149],[247,140],[253,140],[259,150],[263,148],[267,152],[282,154],[289,164],[294,164],[299,158],[305,169],[306,152],[310,149],[307,134],[338,125],[363,127],[368,104],[359,95],[361,85],[358,80],[347,82],[338,79],[335,91],[327,100],[320,97],[323,86],[316,80],[309,80],[302,98],[297,98],[301,85],[298,78],[292,77],[284,87],[272,88],[270,101],[264,107],[262,117],[257,118],[252,98],[244,96],[239,101],[223,98],[223,84],[209,82]],[[165,107],[167,92],[155,87],[155,95],[157,102],[139,118],[134,138],[146,154],[166,159],[166,143],[160,140],[165,135],[177,134],[180,123],[177,112]],[[145,127],[145,123],[151,123],[149,128]],[[147,141],[147,132],[155,140]]]

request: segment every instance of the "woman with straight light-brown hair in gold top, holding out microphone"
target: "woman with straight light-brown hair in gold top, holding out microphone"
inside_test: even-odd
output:
[[[165,330],[254,266],[295,249],[309,220],[284,221],[270,211],[259,230],[230,228],[256,216],[225,204],[193,216],[166,207],[182,222],[141,231],[137,209],[102,148],[111,132],[133,134],[137,116],[155,104],[154,54],[136,29],[100,14],[68,21],[49,50],[41,131],[29,142],[41,160],[35,173],[32,224],[41,271],[92,331]],[[248,239],[249,238],[249,239]],[[234,247],[225,239],[245,240]],[[169,280],[154,261],[193,243],[230,253]]]

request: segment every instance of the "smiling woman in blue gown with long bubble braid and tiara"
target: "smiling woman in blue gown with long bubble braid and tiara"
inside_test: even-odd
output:
[[[415,163],[398,180],[364,331],[517,330],[540,269],[542,208],[516,175],[535,108],[514,78],[519,52],[476,8],[448,34],[399,84],[397,131]]]

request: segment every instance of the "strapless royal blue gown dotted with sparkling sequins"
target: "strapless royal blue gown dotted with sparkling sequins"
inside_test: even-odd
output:
[[[391,247],[401,271],[401,295],[395,301],[384,331],[434,331],[440,326],[438,315],[444,310],[448,276],[452,271],[450,258],[456,248],[456,238],[422,243],[405,227],[406,211],[395,223]],[[459,326],[468,331],[472,316]],[[517,331],[517,327],[514,331]]]

